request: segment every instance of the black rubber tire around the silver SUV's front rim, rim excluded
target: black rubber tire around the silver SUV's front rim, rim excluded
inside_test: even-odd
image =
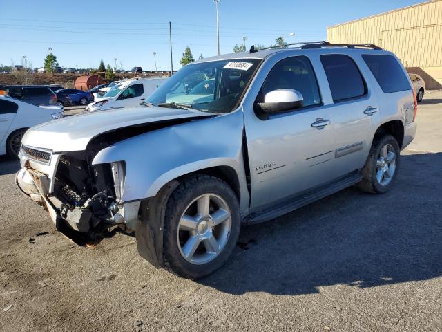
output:
[[[177,243],[178,223],[189,204],[198,196],[216,194],[227,203],[231,211],[231,230],[224,248],[206,264],[192,264],[184,259]],[[175,189],[166,205],[164,217],[164,268],[189,279],[199,279],[213,273],[224,264],[235,248],[240,234],[240,206],[231,187],[219,178],[195,175],[185,178]]]

